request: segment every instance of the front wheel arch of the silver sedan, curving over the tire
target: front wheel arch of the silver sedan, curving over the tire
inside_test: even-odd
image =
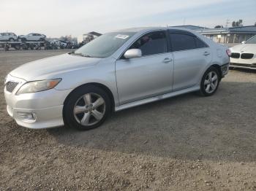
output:
[[[111,112],[113,112],[115,110],[115,100],[114,100],[114,96],[113,96],[113,93],[111,92],[110,88],[108,88],[106,85],[102,85],[101,83],[98,83],[98,82],[89,82],[89,83],[86,83],[86,84],[83,84],[83,85],[80,85],[78,87],[75,87],[74,90],[72,90],[69,95],[67,95],[67,97],[65,98],[64,100],[64,105],[67,103],[67,100],[69,98],[69,96],[75,91],[75,90],[78,90],[78,88],[81,88],[81,87],[86,87],[86,86],[96,86],[96,87],[99,87],[101,88],[102,90],[104,90],[107,94],[108,94],[108,97],[110,98],[110,109],[111,109]]]

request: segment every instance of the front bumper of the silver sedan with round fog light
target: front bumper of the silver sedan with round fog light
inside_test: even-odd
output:
[[[64,100],[71,90],[56,90],[53,88],[37,93],[15,95],[23,83],[20,82],[12,93],[4,87],[7,112],[18,125],[36,129],[64,125],[62,109]],[[31,118],[26,117],[29,114],[31,114]]]

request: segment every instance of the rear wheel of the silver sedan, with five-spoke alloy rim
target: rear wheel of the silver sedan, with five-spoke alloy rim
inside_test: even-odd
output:
[[[211,66],[205,74],[200,82],[200,94],[203,96],[214,95],[219,87],[220,82],[220,74],[217,68]]]

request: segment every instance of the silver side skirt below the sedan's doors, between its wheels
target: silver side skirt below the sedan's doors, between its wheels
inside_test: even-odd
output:
[[[130,108],[130,107],[133,107],[133,106],[140,106],[140,105],[143,105],[143,104],[148,104],[148,103],[153,102],[153,101],[159,101],[159,100],[162,100],[162,99],[165,99],[165,98],[171,98],[171,97],[174,97],[176,95],[181,95],[181,94],[184,94],[184,93],[195,92],[197,90],[200,90],[199,85],[194,86],[194,87],[189,87],[189,88],[184,89],[184,90],[178,90],[178,91],[175,91],[175,92],[172,92],[172,93],[157,95],[157,96],[154,96],[152,98],[146,98],[146,99],[143,99],[143,100],[134,101],[132,103],[123,104],[121,106],[116,106],[115,107],[115,112],[121,111],[123,109]]]

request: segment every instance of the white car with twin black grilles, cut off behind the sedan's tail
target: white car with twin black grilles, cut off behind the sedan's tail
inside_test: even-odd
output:
[[[230,48],[230,67],[256,69],[256,35]]]

